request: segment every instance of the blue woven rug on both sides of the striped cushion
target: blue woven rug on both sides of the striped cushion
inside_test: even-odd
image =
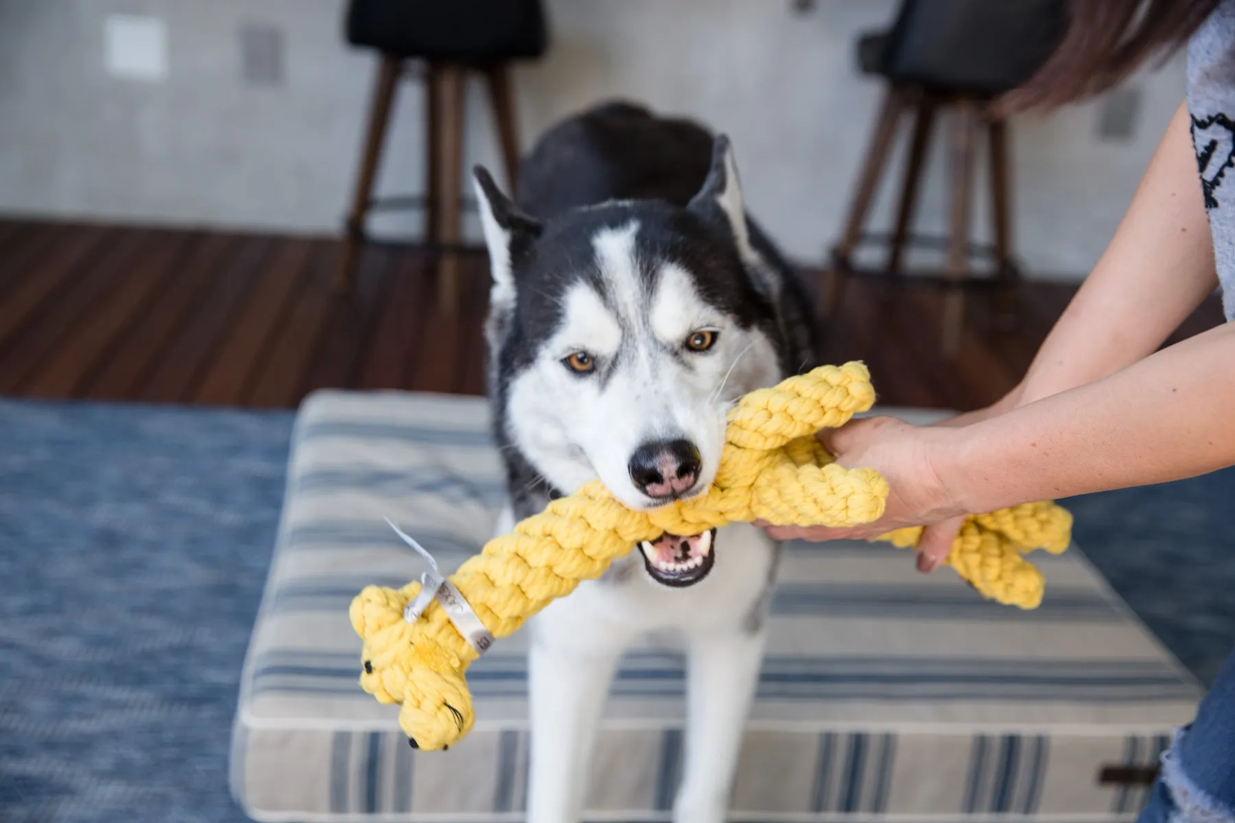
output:
[[[289,413],[0,402],[0,821],[240,823],[237,679]],[[1235,473],[1067,501],[1208,681],[1235,644]]]

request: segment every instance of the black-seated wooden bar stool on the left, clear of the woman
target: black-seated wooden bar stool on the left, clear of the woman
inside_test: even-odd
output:
[[[356,260],[366,241],[364,225],[378,209],[424,206],[425,241],[441,252],[438,306],[458,305],[461,188],[463,180],[463,100],[469,74],[480,74],[498,125],[503,163],[515,190],[519,137],[510,64],[541,57],[548,44],[540,0],[351,0],[347,41],[380,54],[369,105],[352,205],[345,223],[338,285],[351,289]],[[426,191],[421,196],[373,197],[395,86],[409,60],[426,85]]]

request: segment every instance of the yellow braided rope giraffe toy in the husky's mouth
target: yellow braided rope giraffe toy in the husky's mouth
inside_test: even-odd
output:
[[[424,590],[419,582],[366,587],[351,607],[352,627],[364,640],[361,686],[383,703],[401,703],[399,724],[412,746],[445,749],[472,728],[463,675],[493,638],[516,632],[582,580],[599,577],[641,540],[739,521],[857,526],[878,519],[888,496],[883,478],[872,469],[841,468],[814,437],[873,402],[861,363],[789,378],[746,395],[730,411],[720,468],[703,495],[632,511],[593,481],[489,540],[450,580],[435,568]],[[984,597],[1034,608],[1044,581],[1021,555],[1036,548],[1062,552],[1070,531],[1068,513],[1049,502],[971,517],[947,564]],[[920,534],[908,528],[879,539],[911,547]]]

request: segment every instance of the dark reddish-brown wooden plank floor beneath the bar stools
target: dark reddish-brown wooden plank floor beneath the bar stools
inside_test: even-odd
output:
[[[484,257],[457,317],[431,258],[371,247],[351,296],[333,239],[0,221],[0,395],[293,407],[321,387],[483,392]],[[1072,287],[1028,284],[1014,332],[969,301],[961,354],[939,354],[940,294],[881,300],[855,283],[825,362],[863,359],[890,405],[973,408],[1011,387]],[[1220,322],[1216,301],[1186,325]]]

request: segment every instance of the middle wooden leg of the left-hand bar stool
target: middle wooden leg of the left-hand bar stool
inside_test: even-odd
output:
[[[459,188],[463,179],[464,68],[443,64],[435,73],[438,132],[438,197],[436,241],[443,246],[437,268],[437,306],[443,313],[458,308],[459,291]]]

